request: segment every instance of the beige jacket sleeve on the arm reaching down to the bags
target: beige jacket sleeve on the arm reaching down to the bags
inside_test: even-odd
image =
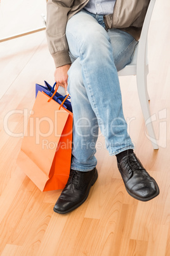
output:
[[[65,28],[73,2],[74,0],[48,0],[47,3],[46,38],[56,68],[71,63]]]

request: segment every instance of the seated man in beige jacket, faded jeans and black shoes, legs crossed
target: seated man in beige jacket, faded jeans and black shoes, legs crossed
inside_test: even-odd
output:
[[[140,201],[159,194],[133,152],[122,111],[117,71],[131,62],[149,0],[49,0],[46,35],[55,80],[68,90],[74,114],[70,176],[55,204],[69,213],[87,199],[98,178],[98,127],[116,155],[128,193]]]

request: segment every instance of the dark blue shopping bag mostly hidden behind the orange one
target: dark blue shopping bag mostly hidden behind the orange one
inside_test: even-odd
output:
[[[53,93],[55,92],[56,83],[54,83],[53,87],[51,87],[51,85],[49,85],[49,83],[46,81],[44,81],[44,84],[45,84],[45,86],[42,86],[42,85],[39,85],[38,83],[36,83],[36,97],[37,97],[38,91],[45,92],[45,94],[47,94],[49,97],[51,97],[53,95]],[[59,92],[56,92],[55,96],[53,96],[53,99],[57,103],[62,104],[62,102],[66,96],[62,96],[62,94],[59,94]],[[70,103],[68,98],[70,99],[70,96],[67,97],[67,99],[65,100],[63,107],[72,112],[72,104]]]

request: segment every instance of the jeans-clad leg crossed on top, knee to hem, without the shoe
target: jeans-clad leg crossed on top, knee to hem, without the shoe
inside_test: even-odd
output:
[[[70,18],[66,34],[70,53],[80,60],[82,82],[108,152],[115,155],[133,148],[124,120],[119,78],[107,31],[95,18],[81,11]]]

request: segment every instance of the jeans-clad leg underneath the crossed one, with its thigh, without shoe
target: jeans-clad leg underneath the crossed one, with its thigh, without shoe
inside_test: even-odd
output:
[[[120,70],[131,62],[137,42],[131,35],[119,29],[109,30],[108,35],[113,48],[116,68]],[[74,112],[72,169],[89,171],[96,166],[95,143],[98,136],[98,122],[84,87],[79,58],[74,61],[69,69],[68,83]]]

